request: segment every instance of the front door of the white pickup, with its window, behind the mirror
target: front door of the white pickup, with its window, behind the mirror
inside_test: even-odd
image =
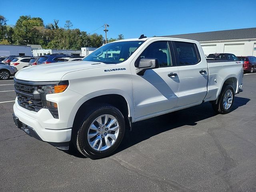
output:
[[[135,119],[149,118],[170,110],[176,107],[178,101],[178,68],[168,41],[150,43],[136,62],[142,58],[158,59],[160,68],[146,70],[143,75],[132,74]]]

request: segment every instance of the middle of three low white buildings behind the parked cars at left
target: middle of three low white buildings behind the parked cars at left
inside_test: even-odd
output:
[[[72,54],[81,56],[81,50],[71,50],[71,49],[37,49],[33,50],[33,56],[42,56],[49,54]]]

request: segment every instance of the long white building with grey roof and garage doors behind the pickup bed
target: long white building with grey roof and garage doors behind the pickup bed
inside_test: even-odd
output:
[[[199,41],[206,56],[211,53],[256,56],[256,28],[168,35],[164,37]]]

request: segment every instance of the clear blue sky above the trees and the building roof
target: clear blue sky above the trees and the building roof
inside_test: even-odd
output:
[[[57,19],[61,27],[70,20],[87,32],[107,23],[108,38],[256,27],[256,0],[1,0],[0,7],[9,25],[21,15],[41,17],[44,24]],[[104,35],[103,29],[95,32]]]

